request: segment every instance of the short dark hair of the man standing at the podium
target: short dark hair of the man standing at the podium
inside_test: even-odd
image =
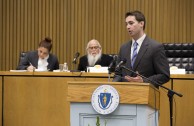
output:
[[[125,18],[127,18],[128,16],[135,16],[135,19],[138,22],[143,21],[144,22],[144,26],[143,26],[143,30],[145,30],[145,25],[146,25],[146,20],[145,20],[145,16],[142,12],[140,11],[131,11],[131,12],[127,12],[125,14]]]

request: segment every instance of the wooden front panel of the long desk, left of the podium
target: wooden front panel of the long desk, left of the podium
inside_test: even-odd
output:
[[[16,73],[16,76],[4,77],[4,126],[70,126],[67,81],[107,82],[107,76],[84,78],[63,73],[62,77],[53,73],[59,74],[53,77],[52,72],[48,76],[47,72],[44,75],[37,72],[39,76],[20,73],[21,76]]]

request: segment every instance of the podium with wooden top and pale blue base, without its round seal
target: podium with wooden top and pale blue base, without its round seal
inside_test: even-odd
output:
[[[100,115],[90,101],[100,85],[113,86],[120,97],[118,108],[109,115]],[[71,126],[156,126],[158,125],[159,90],[149,83],[68,82],[67,101],[70,102]]]

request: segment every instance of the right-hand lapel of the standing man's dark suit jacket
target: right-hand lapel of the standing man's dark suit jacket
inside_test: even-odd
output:
[[[136,58],[135,63],[134,63],[133,70],[136,70],[139,62],[141,61],[141,59],[143,58],[143,55],[146,53],[146,51],[148,49],[148,45],[149,45],[149,42],[148,42],[148,38],[146,36],[146,38],[143,40],[143,43],[142,43],[142,45],[141,45],[141,47],[139,49],[137,58]]]

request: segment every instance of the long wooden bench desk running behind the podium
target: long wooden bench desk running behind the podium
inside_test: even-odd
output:
[[[0,71],[0,126],[69,126],[68,81],[101,81],[113,75],[86,72],[10,72]],[[176,126],[194,125],[194,75],[171,75],[164,86],[174,95],[173,120]],[[169,125],[169,101],[160,89],[160,126]]]

